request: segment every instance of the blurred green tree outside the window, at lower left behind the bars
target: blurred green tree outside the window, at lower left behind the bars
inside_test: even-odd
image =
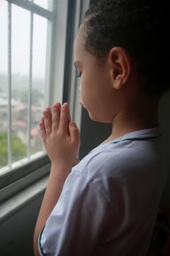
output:
[[[26,146],[12,133],[12,159],[18,161],[26,157]],[[0,133],[0,167],[7,165],[7,132]]]

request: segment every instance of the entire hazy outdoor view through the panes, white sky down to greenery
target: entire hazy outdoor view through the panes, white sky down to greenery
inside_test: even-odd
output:
[[[48,6],[48,0],[35,0],[34,3],[44,8]],[[9,132],[12,163],[44,150],[39,120],[45,105],[47,40],[50,40],[47,38],[47,18],[34,13],[31,26],[29,10],[11,4],[10,13],[8,4],[8,1],[0,1],[0,175],[1,167],[8,165]],[[28,120],[30,67],[31,120]],[[12,88],[11,130],[8,127],[8,76],[11,77]],[[28,122],[31,123],[30,136]]]

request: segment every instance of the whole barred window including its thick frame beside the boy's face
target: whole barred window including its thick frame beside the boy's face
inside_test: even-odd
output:
[[[43,108],[68,101],[80,127],[73,42],[87,8],[82,0],[0,1],[0,189],[8,191],[0,200],[9,186],[12,195],[47,175]]]

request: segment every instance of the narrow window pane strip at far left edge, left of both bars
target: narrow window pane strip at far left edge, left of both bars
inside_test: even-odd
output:
[[[0,1],[0,168],[7,165],[7,1]],[[0,171],[1,173],[1,171]]]

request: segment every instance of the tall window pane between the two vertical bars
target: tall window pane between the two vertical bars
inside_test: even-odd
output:
[[[27,156],[30,12],[12,4],[12,162]]]

